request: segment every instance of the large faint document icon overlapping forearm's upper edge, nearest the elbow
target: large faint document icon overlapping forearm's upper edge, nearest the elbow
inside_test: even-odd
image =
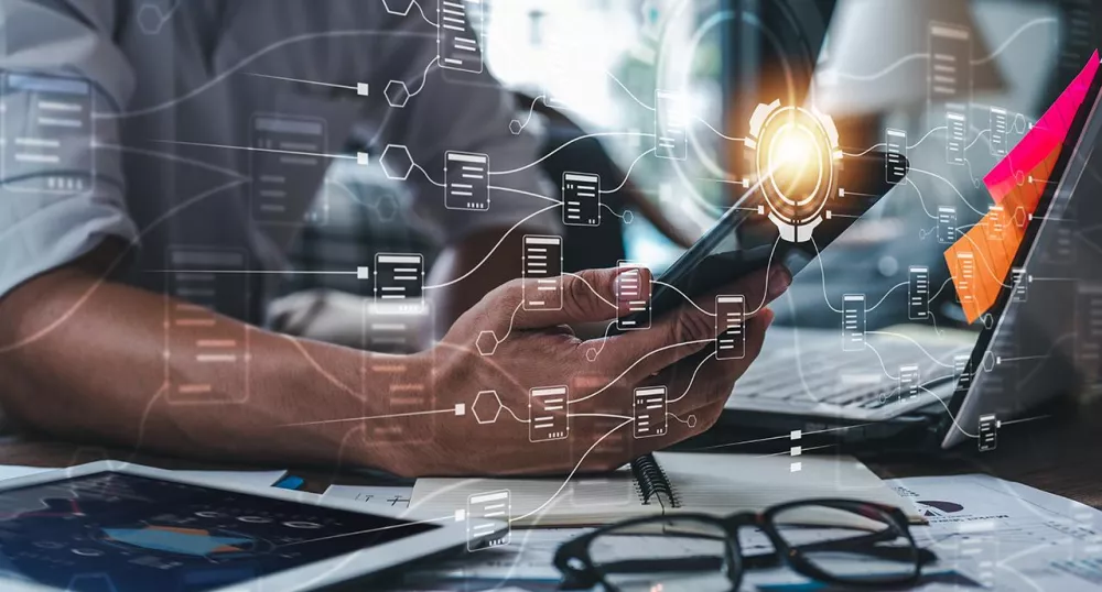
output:
[[[246,318],[249,283],[239,251],[177,248],[168,253],[169,403],[241,403],[249,396],[248,329],[216,311]],[[234,273],[242,272],[242,273]],[[225,308],[233,305],[233,309]]]

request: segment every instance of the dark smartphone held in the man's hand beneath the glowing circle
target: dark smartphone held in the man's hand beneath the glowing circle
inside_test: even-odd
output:
[[[651,290],[650,309],[628,315],[626,321],[617,324],[614,332],[623,332],[622,327],[639,325],[633,324],[635,316],[657,319],[685,306],[684,296],[701,298],[766,267],[784,265],[796,275],[898,185],[898,180],[888,179],[885,171],[903,167],[905,176],[910,165],[906,158],[900,164],[899,158],[898,154],[884,152],[846,158],[839,171],[838,183],[844,191],[834,190],[828,199],[825,210],[830,213],[824,212],[823,221],[812,233],[813,240],[807,242],[780,240],[779,229],[768,219],[769,205],[761,185],[747,189],[736,207],[727,210],[657,278],[659,283]],[[756,306],[757,303],[747,303],[750,310]]]

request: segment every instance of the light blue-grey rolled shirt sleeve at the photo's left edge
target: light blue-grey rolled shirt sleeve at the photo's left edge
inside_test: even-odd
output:
[[[0,0],[0,297],[91,251],[137,242],[111,119],[133,72],[116,2]],[[106,116],[106,117],[97,117]]]

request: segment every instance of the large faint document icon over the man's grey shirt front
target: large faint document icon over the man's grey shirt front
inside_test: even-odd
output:
[[[325,121],[313,118],[256,116],[249,153],[252,219],[264,224],[299,226],[312,216],[295,204],[313,195],[328,162]],[[323,198],[324,199],[324,198]],[[316,213],[313,215],[316,218]]]

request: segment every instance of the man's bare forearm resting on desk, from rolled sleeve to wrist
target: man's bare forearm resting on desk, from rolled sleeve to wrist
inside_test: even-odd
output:
[[[280,463],[366,461],[379,468],[393,462],[388,454],[398,450],[365,450],[355,424],[285,427],[371,415],[364,402],[378,397],[361,395],[359,352],[217,318],[231,332],[248,331],[249,359],[204,365],[190,350],[194,340],[166,339],[172,333],[165,306],[180,305],[188,306],[100,282],[80,268],[21,286],[0,302],[6,413],[68,439],[160,452]],[[182,402],[182,382],[206,388]]]

